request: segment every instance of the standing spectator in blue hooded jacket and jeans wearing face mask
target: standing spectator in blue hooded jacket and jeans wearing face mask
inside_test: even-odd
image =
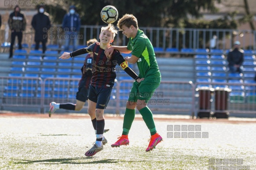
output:
[[[76,51],[77,33],[80,30],[81,20],[79,14],[76,13],[74,5],[69,7],[69,13],[65,14],[62,21],[62,28],[64,29],[65,51],[69,51],[70,39],[73,44],[73,51]]]

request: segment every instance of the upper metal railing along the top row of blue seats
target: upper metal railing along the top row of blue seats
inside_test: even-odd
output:
[[[98,39],[102,26],[105,25],[82,25],[78,33],[79,44],[86,46],[88,39]],[[156,49],[158,53],[181,53],[181,49],[228,50],[232,48],[234,41],[240,41],[244,50],[256,50],[256,31],[253,30],[155,27],[140,27],[140,29],[148,36],[152,45],[159,48]],[[58,44],[61,48],[65,40],[61,25],[53,25],[48,31],[47,39],[47,44]],[[30,48],[33,42],[34,31],[25,32],[23,43],[29,44]],[[126,46],[127,43],[126,36],[118,32],[113,45]]]

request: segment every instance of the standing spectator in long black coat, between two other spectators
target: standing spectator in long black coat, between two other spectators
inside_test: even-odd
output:
[[[44,11],[44,6],[38,7],[38,13],[35,14],[31,22],[32,27],[35,29],[35,50],[39,50],[39,44],[42,43],[43,53],[46,51],[47,31],[50,28],[49,14]]]

